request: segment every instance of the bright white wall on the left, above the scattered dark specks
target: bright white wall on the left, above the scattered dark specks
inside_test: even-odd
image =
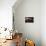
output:
[[[0,27],[12,28],[12,6],[16,0],[0,0]]]

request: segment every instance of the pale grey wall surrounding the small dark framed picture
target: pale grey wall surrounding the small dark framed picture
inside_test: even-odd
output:
[[[41,46],[41,0],[23,0],[13,10],[18,32],[22,32],[25,38],[34,40],[36,46]],[[25,23],[25,17],[34,17],[34,23]]]

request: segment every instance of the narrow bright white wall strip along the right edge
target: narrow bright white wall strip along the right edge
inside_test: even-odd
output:
[[[41,1],[41,40],[42,46],[46,46],[46,0]]]

